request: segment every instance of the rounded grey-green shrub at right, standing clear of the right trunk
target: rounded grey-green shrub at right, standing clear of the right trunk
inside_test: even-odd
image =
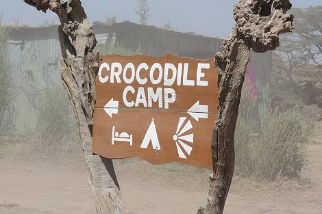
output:
[[[310,124],[299,111],[275,109],[264,122],[256,149],[255,176],[261,180],[298,177],[306,163]]]

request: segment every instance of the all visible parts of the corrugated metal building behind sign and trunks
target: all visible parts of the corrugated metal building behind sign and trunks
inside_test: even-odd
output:
[[[223,40],[177,31],[167,31],[153,26],[130,22],[94,23],[99,43],[114,39],[131,49],[139,47],[149,55],[166,53],[184,57],[208,59],[219,51]],[[45,88],[62,87],[58,60],[61,57],[58,26],[12,28],[10,50],[13,76],[19,88],[16,97],[16,126],[18,131],[32,131],[36,125],[34,101]],[[256,88],[260,101],[260,114],[267,112],[271,53],[253,54],[252,74],[256,77]]]

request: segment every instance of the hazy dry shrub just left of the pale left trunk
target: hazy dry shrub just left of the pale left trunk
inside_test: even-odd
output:
[[[36,109],[34,136],[39,152],[66,155],[79,149],[75,116],[63,88],[42,90]]]

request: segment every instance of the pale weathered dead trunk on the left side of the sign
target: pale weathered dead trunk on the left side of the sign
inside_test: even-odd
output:
[[[77,119],[90,188],[99,214],[123,214],[119,184],[112,160],[92,154],[92,123],[95,79],[99,56],[93,51],[96,40],[80,0],[24,0],[37,10],[51,10],[60,19],[59,38],[63,59],[62,82]]]

